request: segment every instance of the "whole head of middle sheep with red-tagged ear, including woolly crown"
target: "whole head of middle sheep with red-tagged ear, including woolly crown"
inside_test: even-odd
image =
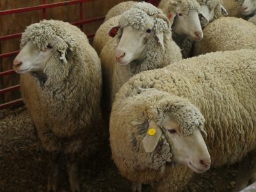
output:
[[[120,65],[127,65],[134,60],[144,60],[147,56],[148,42],[156,42],[150,49],[159,52],[164,50],[164,33],[170,33],[170,22],[166,16],[152,4],[138,3],[124,12],[119,21],[109,31],[118,42],[116,47],[116,61]],[[158,46],[158,47],[157,47]]]

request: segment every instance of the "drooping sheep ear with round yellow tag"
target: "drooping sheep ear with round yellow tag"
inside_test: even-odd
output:
[[[157,143],[162,135],[161,128],[156,122],[150,122],[146,136],[143,138],[143,147],[147,153],[155,150]]]

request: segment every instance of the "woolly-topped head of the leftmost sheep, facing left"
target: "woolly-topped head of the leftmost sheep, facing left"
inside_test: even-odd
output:
[[[42,20],[26,28],[22,33],[20,52],[13,61],[17,73],[43,72],[52,56],[56,56],[55,62],[68,62],[76,43],[59,27],[58,21]]]

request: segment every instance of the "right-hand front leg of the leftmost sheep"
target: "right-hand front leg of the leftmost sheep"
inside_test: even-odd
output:
[[[79,192],[79,179],[77,174],[77,154],[68,154],[68,179],[70,184],[70,190],[72,192]]]

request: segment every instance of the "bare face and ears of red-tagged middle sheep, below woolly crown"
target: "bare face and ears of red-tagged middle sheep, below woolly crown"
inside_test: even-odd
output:
[[[117,33],[118,45],[115,58],[118,64],[127,65],[131,61],[144,60],[147,57],[147,50],[150,46],[151,49],[153,49],[152,46],[159,46],[159,49],[164,50],[164,31],[169,30],[169,20],[164,15],[158,14],[154,16],[146,15],[145,18],[140,27],[130,23],[126,24],[124,19],[125,21],[121,22],[125,23],[124,26],[121,25],[110,29],[110,36],[115,36]],[[131,18],[129,17],[129,19]],[[118,29],[118,32],[116,29]]]

